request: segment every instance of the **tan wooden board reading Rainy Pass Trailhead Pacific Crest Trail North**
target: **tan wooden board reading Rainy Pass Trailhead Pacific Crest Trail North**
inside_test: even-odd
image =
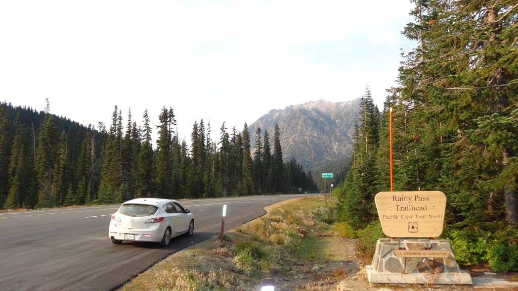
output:
[[[380,192],[374,200],[388,237],[433,238],[442,233],[446,195],[440,191]]]

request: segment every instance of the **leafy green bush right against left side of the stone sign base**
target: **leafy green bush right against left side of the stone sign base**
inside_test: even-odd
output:
[[[356,243],[356,257],[368,264],[376,252],[376,242],[385,238],[379,220],[368,224],[364,229],[358,230],[358,242]]]

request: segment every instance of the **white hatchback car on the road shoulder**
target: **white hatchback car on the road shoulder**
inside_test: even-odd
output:
[[[176,200],[137,198],[122,203],[111,214],[108,237],[112,243],[122,241],[160,242],[168,246],[171,238],[194,232],[194,214]]]

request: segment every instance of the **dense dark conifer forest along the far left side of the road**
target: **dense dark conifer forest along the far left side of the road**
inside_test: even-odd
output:
[[[258,128],[251,145],[246,123],[240,133],[223,123],[214,141],[202,119],[189,148],[172,130],[172,108],[162,109],[158,125],[150,124],[147,110],[142,119],[137,126],[130,110],[124,126],[116,106],[109,128],[85,127],[50,114],[49,100],[40,112],[0,103],[0,208],[316,191],[311,172],[295,159],[283,162],[279,126],[272,138]]]

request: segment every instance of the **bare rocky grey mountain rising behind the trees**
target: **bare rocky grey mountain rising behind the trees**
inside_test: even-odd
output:
[[[272,109],[248,127],[250,144],[254,146],[257,128],[261,127],[261,137],[267,130],[272,145],[278,124],[284,162],[295,158],[308,171],[348,159],[353,151],[359,103],[359,98],[338,103],[320,99]]]

